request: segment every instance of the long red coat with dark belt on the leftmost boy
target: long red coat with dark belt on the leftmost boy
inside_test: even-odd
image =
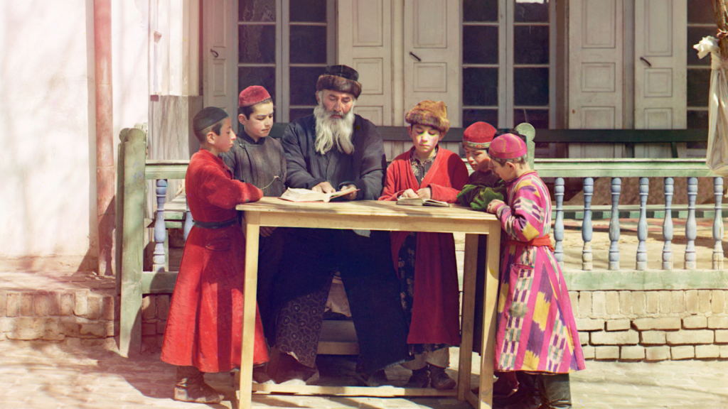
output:
[[[226,221],[235,205],[255,202],[263,192],[232,179],[222,159],[200,149],[185,178],[187,204],[195,221]],[[223,372],[240,366],[245,237],[237,223],[221,229],[192,227],[167,318],[162,361]],[[253,362],[268,361],[256,311]]]

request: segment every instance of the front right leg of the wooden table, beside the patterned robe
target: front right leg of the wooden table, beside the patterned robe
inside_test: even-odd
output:
[[[486,288],[483,293],[483,342],[480,356],[479,408],[492,408],[493,368],[496,343],[496,308],[498,303],[498,277],[500,264],[500,223],[494,221],[493,233],[488,234],[486,256]]]

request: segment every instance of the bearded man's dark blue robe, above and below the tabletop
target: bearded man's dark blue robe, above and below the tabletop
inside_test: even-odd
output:
[[[334,188],[357,186],[357,199],[379,198],[387,163],[384,143],[376,126],[361,116],[355,116],[353,126],[352,154],[342,154],[335,147],[321,155],[314,149],[314,116],[291,122],[282,140],[288,186],[312,188],[328,180]],[[367,373],[404,362],[409,356],[408,325],[389,243],[386,231],[371,231],[371,237],[363,237],[351,230],[291,229],[274,295],[276,306],[282,307],[320,291],[338,270]],[[316,312],[323,314],[323,310]],[[312,344],[315,338],[311,338]]]

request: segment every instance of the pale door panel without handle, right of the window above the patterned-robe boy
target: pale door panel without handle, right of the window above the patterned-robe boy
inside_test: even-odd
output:
[[[569,0],[569,128],[622,128],[622,0]],[[569,157],[620,157],[624,146],[576,144]]]

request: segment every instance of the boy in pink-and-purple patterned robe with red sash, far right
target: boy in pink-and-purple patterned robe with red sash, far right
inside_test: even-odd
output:
[[[487,207],[501,221],[504,237],[494,369],[512,382],[516,371],[530,379],[520,402],[507,407],[571,408],[569,373],[585,369],[584,357],[551,247],[550,194],[527,153],[523,139],[511,133],[488,149],[491,169],[506,186],[506,202]]]

